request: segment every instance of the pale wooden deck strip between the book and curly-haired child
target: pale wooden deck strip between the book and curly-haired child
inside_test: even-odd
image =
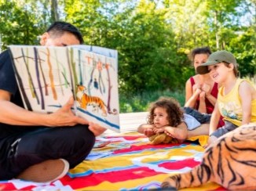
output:
[[[140,124],[147,123],[148,112],[120,114],[120,133],[137,132]],[[119,133],[107,130],[103,135],[117,135]]]

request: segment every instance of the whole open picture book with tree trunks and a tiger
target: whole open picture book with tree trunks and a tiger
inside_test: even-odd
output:
[[[118,53],[90,45],[10,45],[27,110],[52,113],[73,97],[80,117],[119,132]]]

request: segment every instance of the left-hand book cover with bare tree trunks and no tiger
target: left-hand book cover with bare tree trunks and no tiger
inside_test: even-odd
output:
[[[27,110],[49,114],[73,96],[66,48],[11,45],[9,49]]]

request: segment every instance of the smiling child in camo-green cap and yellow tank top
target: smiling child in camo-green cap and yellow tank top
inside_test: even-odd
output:
[[[210,77],[221,85],[210,118],[207,146],[243,124],[256,123],[256,89],[251,81],[237,77],[236,58],[231,52],[222,50],[212,53],[196,71],[199,74],[210,73]],[[221,116],[224,117],[225,125],[217,129]]]

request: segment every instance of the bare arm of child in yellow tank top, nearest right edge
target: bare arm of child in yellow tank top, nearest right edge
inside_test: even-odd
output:
[[[238,91],[242,103],[242,125],[249,124],[251,122],[251,100],[253,99],[254,88],[247,81],[243,81]]]

